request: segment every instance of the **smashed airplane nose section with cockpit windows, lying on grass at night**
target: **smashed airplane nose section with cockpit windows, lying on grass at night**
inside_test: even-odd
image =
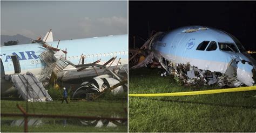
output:
[[[134,64],[137,62],[137,64]],[[235,36],[219,29],[186,26],[151,36],[130,51],[130,69],[157,64],[185,85],[252,86],[256,61]]]

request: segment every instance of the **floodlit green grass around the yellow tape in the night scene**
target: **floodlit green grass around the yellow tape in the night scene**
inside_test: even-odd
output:
[[[183,86],[159,69],[129,71],[129,94],[210,90]],[[129,131],[256,131],[256,91],[182,97],[129,97]]]

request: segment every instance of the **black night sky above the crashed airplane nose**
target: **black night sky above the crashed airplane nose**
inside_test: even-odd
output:
[[[246,50],[256,50],[256,2],[129,2],[129,48],[143,45],[151,31],[187,25],[211,26],[237,37]]]

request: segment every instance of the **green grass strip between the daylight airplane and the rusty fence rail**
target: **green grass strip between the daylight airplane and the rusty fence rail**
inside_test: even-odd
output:
[[[16,104],[26,109],[25,101],[1,100],[2,113],[21,113]],[[127,108],[126,101],[71,101],[69,104],[66,104],[65,101],[63,104],[61,104],[61,101],[28,102],[29,113],[35,114],[111,116],[116,113],[125,117],[127,114],[124,112],[124,108]]]

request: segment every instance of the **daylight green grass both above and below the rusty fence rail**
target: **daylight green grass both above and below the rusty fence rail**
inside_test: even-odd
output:
[[[1,100],[2,113],[21,113],[17,108],[17,104],[26,109],[25,101]],[[101,116],[101,117],[122,117],[126,118],[127,100],[123,99],[97,99],[96,101],[65,101],[61,104],[60,100],[52,102],[28,102],[28,112],[32,114],[57,114],[57,115],[80,115],[80,116]],[[1,131],[23,131],[23,126],[11,126],[5,124],[4,121],[21,120],[22,117],[1,117]],[[52,124],[53,120],[47,119],[42,125],[29,126],[29,131],[127,131],[127,124],[118,124],[116,128],[95,128],[95,125],[82,125],[79,120],[77,124]],[[72,119],[68,119],[69,122]],[[46,121],[46,122],[45,122]],[[11,123],[11,122],[9,122]],[[80,123],[80,124],[79,124]],[[107,123],[107,122],[106,122]]]

